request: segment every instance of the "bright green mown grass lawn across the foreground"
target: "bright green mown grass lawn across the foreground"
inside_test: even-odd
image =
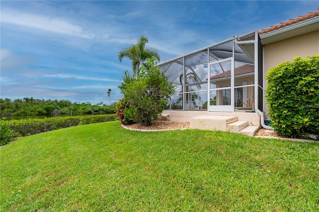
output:
[[[0,149],[0,211],[319,211],[319,144],[118,121]]]

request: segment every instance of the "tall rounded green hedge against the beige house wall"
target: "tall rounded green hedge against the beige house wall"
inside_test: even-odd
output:
[[[279,64],[266,79],[266,101],[275,132],[293,138],[319,134],[319,55]]]

